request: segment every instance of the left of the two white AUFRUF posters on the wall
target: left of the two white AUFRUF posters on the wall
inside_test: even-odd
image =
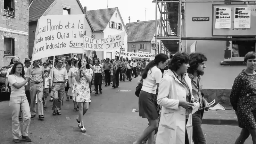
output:
[[[215,28],[231,28],[231,7],[216,7]]]

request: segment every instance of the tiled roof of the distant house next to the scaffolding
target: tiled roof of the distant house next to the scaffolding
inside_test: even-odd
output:
[[[157,25],[160,20],[157,20]],[[127,42],[151,41],[156,31],[156,20],[127,23],[125,25],[129,36]]]

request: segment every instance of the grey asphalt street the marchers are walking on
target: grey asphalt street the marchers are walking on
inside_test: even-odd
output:
[[[118,88],[102,85],[102,94],[91,93],[92,102],[84,115],[86,133],[77,127],[78,112],[73,111],[73,102],[64,105],[61,116],[52,116],[52,102],[44,110],[45,119],[36,115],[31,119],[29,136],[32,142],[23,144],[132,144],[147,127],[147,120],[140,118],[135,87],[138,78],[131,82],[119,82]],[[120,92],[118,90],[131,90]],[[237,126],[203,125],[207,144],[233,144],[240,133]],[[0,102],[0,144],[12,144],[11,111],[9,101]],[[252,144],[251,137],[245,144]]]

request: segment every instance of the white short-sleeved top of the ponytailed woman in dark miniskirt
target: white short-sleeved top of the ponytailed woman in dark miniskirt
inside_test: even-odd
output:
[[[143,80],[143,86],[141,88],[142,91],[156,94],[157,83],[160,83],[162,79],[162,72],[157,66],[148,70],[147,77]]]

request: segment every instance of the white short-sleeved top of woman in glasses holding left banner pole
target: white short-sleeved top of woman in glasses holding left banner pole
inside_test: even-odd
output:
[[[11,87],[11,95],[10,97],[19,97],[19,96],[26,96],[25,94],[25,85],[27,85],[27,83],[20,87],[19,89],[15,88],[13,86],[13,84],[15,83],[22,83],[23,81],[25,81],[25,79],[23,77],[18,77],[16,75],[9,75],[8,76],[8,82],[10,84],[10,87]]]

